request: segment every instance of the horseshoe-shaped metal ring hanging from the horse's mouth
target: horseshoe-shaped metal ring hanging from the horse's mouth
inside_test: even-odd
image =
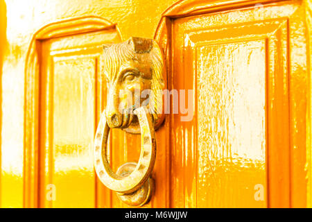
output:
[[[107,138],[110,127],[107,125],[105,110],[101,115],[94,139],[94,166],[98,178],[103,184],[120,193],[129,194],[144,185],[150,177],[156,159],[156,140],[153,119],[146,106],[137,108],[134,113],[141,128],[141,154],[139,162],[129,176],[119,176],[112,171],[107,161]]]

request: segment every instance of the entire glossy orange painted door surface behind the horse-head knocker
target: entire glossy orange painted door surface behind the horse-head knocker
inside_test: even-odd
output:
[[[128,207],[93,166],[107,93],[101,44],[154,33],[168,89],[195,90],[194,117],[168,114],[157,130],[155,194],[144,207],[311,207],[311,15],[309,0],[0,0],[0,207]],[[76,17],[116,26],[73,24],[60,37]],[[32,37],[57,21],[27,62]],[[27,66],[40,78],[29,81]],[[28,125],[26,85],[37,90],[38,128]],[[25,135],[36,130],[33,149]],[[112,130],[112,169],[137,162],[140,144]]]

